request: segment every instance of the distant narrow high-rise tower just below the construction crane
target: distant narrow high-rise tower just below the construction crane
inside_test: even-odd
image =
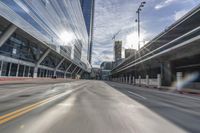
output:
[[[116,62],[122,59],[122,41],[115,41],[114,56]]]

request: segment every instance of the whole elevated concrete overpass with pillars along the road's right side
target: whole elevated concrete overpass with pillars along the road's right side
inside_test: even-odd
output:
[[[115,67],[111,78],[159,87],[172,86],[184,77],[195,76],[190,87],[196,88],[200,71],[199,44],[200,6],[197,6]]]

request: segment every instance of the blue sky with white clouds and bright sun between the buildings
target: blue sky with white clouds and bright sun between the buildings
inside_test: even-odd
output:
[[[113,60],[112,37],[123,41],[123,49],[137,49],[136,10],[141,0],[96,0],[94,20],[93,67]],[[200,0],[146,0],[141,12],[141,38],[148,42]],[[124,53],[123,53],[124,54]]]

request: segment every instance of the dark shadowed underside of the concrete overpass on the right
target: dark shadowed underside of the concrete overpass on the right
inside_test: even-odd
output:
[[[193,80],[193,83],[187,87],[199,88],[200,77],[200,39],[187,43],[182,47],[171,49],[170,51],[154,58],[149,58],[141,63],[136,63],[132,67],[114,73],[111,78],[123,77],[126,80],[132,80],[133,77],[145,79],[148,75],[149,79],[157,78],[161,75],[162,86],[173,86],[177,80],[177,73],[181,72],[182,77],[192,76],[198,73],[198,77]],[[129,77],[131,77],[129,79]],[[127,81],[129,82],[129,81]]]

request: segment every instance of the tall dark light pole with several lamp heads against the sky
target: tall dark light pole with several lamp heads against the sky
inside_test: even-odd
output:
[[[144,4],[146,4],[145,1],[140,3],[140,6],[138,7],[136,13],[137,13],[137,19],[135,20],[135,22],[138,23],[138,50],[140,50],[140,12],[142,11],[142,7],[144,7]]]

